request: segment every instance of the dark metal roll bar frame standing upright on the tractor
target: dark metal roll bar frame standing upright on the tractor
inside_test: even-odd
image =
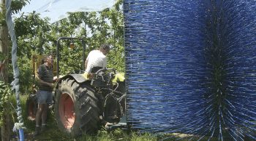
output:
[[[81,38],[73,38],[73,37],[60,37],[57,40],[57,46],[56,46],[56,57],[57,57],[57,78],[59,78],[59,42],[61,40],[81,40],[83,44],[83,71],[84,71],[84,63],[85,63],[85,52],[86,52],[86,44],[85,41]]]

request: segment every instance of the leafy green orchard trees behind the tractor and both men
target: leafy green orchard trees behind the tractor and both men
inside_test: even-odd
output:
[[[13,2],[14,5],[18,4],[15,4],[17,0]],[[13,7],[18,9],[27,2],[28,0],[20,1],[18,6]],[[50,24],[48,18],[42,19],[35,12],[15,18],[20,92],[30,93],[34,83],[30,65],[31,55],[49,55],[55,52],[56,41],[62,36],[82,37],[86,41],[86,56],[101,44],[110,44],[108,68],[116,68],[117,71],[124,72],[124,17],[121,4],[122,0],[118,0],[113,8],[104,9],[101,12],[69,13],[69,17],[54,24]],[[60,43],[59,70],[61,75],[83,68],[82,44],[80,41],[73,42],[75,49],[69,48],[70,41]],[[12,81],[11,65],[9,69],[10,81]]]

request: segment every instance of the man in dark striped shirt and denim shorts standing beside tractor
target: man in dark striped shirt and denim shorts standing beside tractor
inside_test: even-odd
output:
[[[34,136],[39,134],[40,122],[42,122],[41,132],[45,131],[46,118],[48,113],[48,104],[53,100],[53,57],[48,55],[44,63],[39,65],[36,79],[39,82],[37,91],[38,109],[36,114],[36,129]]]

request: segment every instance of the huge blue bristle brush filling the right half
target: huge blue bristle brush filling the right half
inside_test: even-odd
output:
[[[124,0],[132,128],[256,140],[255,11],[253,0]]]

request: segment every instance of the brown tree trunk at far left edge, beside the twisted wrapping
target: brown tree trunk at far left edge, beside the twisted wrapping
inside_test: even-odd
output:
[[[1,0],[1,12],[5,15],[5,0]],[[4,66],[0,71],[0,81],[4,81],[4,84],[8,83],[8,28],[7,25],[1,25],[0,27],[0,52],[4,55],[5,60]],[[3,61],[3,60],[1,60]],[[11,133],[11,126],[10,126],[10,113],[4,113],[3,115],[4,124],[1,127],[1,140],[2,141],[9,141],[10,140],[10,133]]]

